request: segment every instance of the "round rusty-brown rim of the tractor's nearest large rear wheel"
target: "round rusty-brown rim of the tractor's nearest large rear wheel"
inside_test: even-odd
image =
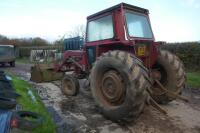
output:
[[[122,77],[114,70],[103,75],[101,82],[101,94],[109,105],[119,105],[124,99],[125,86]]]

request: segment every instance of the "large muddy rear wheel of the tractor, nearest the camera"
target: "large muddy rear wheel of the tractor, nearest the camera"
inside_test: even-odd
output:
[[[93,97],[108,119],[133,121],[143,111],[148,75],[134,55],[123,51],[104,53],[95,62],[90,77]]]

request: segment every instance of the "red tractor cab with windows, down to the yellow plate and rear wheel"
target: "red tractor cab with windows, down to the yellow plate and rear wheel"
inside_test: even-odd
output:
[[[147,9],[121,3],[87,17],[86,53],[89,65],[109,50],[128,51],[147,62],[145,57],[150,56],[148,51],[153,42]],[[153,63],[154,60],[150,64]]]

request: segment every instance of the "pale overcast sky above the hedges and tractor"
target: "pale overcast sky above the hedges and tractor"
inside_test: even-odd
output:
[[[149,9],[157,41],[200,40],[200,0],[0,0],[0,34],[53,41],[121,2]]]

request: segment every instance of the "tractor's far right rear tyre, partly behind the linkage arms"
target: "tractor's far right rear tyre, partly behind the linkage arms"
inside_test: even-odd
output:
[[[174,54],[160,50],[157,63],[153,66],[156,79],[168,90],[175,94],[181,94],[185,86],[186,76],[181,60]],[[161,91],[155,83],[153,85],[153,99],[160,104],[167,104],[176,98]]]

